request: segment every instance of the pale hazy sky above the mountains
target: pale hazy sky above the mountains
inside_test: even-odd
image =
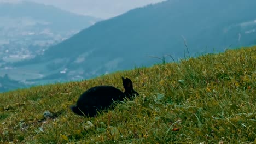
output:
[[[0,0],[0,2],[19,2],[22,0]],[[27,0],[72,11],[73,13],[101,17],[107,19],[125,13],[126,11],[142,7],[150,3],[163,0]]]

